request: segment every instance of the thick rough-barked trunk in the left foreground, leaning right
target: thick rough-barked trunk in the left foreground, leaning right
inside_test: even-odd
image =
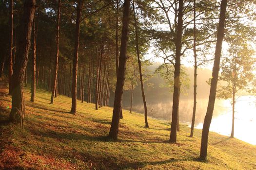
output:
[[[21,34],[17,48],[17,57],[12,76],[12,110],[10,121],[23,126],[25,104],[23,96],[23,81],[28,62],[30,38],[33,19],[36,10],[36,0],[24,0],[23,18],[21,19]]]

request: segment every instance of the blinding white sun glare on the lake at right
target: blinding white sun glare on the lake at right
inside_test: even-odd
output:
[[[226,111],[219,113],[211,122],[210,131],[230,136],[232,128],[232,105],[229,100],[221,104]],[[256,145],[256,97],[242,96],[235,105],[235,134],[237,139]],[[196,128],[202,129],[203,123]]]

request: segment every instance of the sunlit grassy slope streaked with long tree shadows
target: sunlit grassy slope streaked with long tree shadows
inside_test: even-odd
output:
[[[10,97],[0,96],[0,169],[149,169],[149,170],[255,170],[256,146],[210,133],[209,161],[198,162],[200,130],[188,137],[180,127],[177,144],[167,142],[170,125],[124,111],[118,142],[107,141],[112,108],[96,111],[94,104],[78,101],[77,115],[67,113],[71,99],[59,96],[49,104],[50,93],[37,90],[36,102],[29,102],[25,89],[26,116],[23,129],[4,123]]]

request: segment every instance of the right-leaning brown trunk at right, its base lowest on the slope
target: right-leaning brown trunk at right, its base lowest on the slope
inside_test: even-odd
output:
[[[215,59],[214,59],[214,67],[213,67],[213,74],[212,74],[212,80],[211,80],[209,102],[208,102],[208,107],[207,107],[206,115],[203,122],[203,131],[202,131],[202,138],[201,138],[200,159],[202,160],[206,159],[207,157],[208,136],[209,136],[209,129],[210,129],[210,125],[213,117],[213,111],[214,111],[219,63],[220,63],[220,56],[221,56],[221,50],[222,50],[222,41],[224,38],[226,8],[227,8],[227,0],[221,0],[217,43],[216,43],[216,50],[215,50]]]

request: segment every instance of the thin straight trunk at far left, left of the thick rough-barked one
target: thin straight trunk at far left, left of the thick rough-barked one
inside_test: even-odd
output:
[[[9,53],[9,95],[11,95],[12,75],[13,75],[13,0],[10,0],[10,53]]]

